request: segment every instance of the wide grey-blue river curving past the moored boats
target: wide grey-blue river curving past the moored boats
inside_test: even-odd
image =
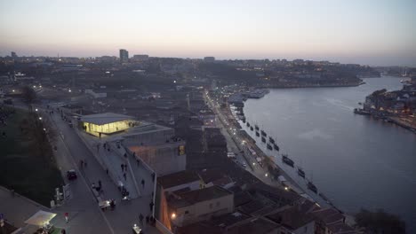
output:
[[[280,152],[304,168],[318,191],[340,210],[354,214],[361,207],[383,208],[404,219],[407,233],[416,233],[416,134],[353,113],[372,91],[400,90],[403,85],[400,78],[388,76],[364,82],[358,87],[270,90],[264,98],[247,100],[244,113],[247,121],[275,138]],[[306,188],[294,168],[244,129]]]

